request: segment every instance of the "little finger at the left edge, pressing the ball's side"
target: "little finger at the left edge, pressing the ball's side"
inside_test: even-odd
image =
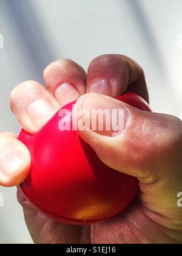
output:
[[[25,180],[30,169],[30,153],[12,133],[0,134],[0,185],[13,187]]]

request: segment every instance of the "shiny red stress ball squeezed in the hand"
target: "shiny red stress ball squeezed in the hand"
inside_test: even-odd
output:
[[[140,96],[116,97],[150,111]],[[72,113],[73,103],[66,105]],[[70,113],[64,118],[70,118]],[[59,112],[35,135],[19,140],[29,148],[32,166],[20,185],[25,197],[44,215],[69,224],[92,224],[121,213],[138,193],[138,180],[104,165],[76,130],[59,130]]]

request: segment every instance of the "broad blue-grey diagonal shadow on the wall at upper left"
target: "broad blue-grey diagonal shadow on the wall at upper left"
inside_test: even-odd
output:
[[[8,16],[13,16],[15,23],[12,27],[17,31],[29,56],[27,64],[33,69],[38,80],[42,80],[42,70],[56,59],[50,45],[49,33],[45,30],[32,1],[6,0],[4,5]]]

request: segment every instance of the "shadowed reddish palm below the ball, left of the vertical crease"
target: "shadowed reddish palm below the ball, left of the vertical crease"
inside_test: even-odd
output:
[[[18,190],[18,201],[24,208],[25,221],[33,241],[38,244],[89,243],[90,231],[81,226],[62,224],[42,215]],[[83,237],[83,230],[88,234]],[[83,237],[83,238],[82,238]],[[81,241],[86,239],[86,241]]]

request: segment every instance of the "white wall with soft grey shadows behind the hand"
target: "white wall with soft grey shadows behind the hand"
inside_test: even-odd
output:
[[[97,55],[128,55],[143,66],[155,112],[180,116],[181,0],[0,0],[0,132],[18,133],[10,91],[42,82],[44,67],[73,59],[87,69]],[[0,243],[32,243],[15,188],[2,188]]]

